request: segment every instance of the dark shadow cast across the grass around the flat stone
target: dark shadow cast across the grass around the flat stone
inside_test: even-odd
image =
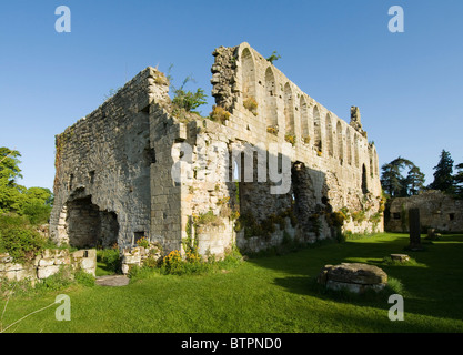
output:
[[[390,278],[403,284],[407,313],[462,321],[463,305],[463,235],[443,235],[439,241],[425,241],[422,252],[405,252],[409,244],[405,234],[387,234],[376,237],[326,244],[316,248],[305,248],[283,256],[251,258],[249,262],[266,268],[289,274],[278,277],[274,284],[288,292],[346,302],[355,305],[389,308],[389,294],[376,298],[346,297],[326,293],[313,284],[325,264],[343,262],[368,263],[383,268]],[[406,253],[415,263],[391,265],[384,257],[393,253]],[[391,292],[392,294],[394,292]]]

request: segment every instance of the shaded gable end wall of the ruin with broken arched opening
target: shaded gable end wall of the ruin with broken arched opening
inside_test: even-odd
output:
[[[150,102],[168,98],[148,68],[56,138],[51,237],[79,247],[131,244],[150,233]]]

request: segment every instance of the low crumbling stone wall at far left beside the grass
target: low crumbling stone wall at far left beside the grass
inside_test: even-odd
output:
[[[8,253],[0,254],[0,280],[21,281],[29,278],[34,283],[57,274],[61,267],[66,266],[72,270],[83,270],[95,276],[97,251],[80,250],[69,253],[68,250],[44,250],[27,264],[13,262]]]

